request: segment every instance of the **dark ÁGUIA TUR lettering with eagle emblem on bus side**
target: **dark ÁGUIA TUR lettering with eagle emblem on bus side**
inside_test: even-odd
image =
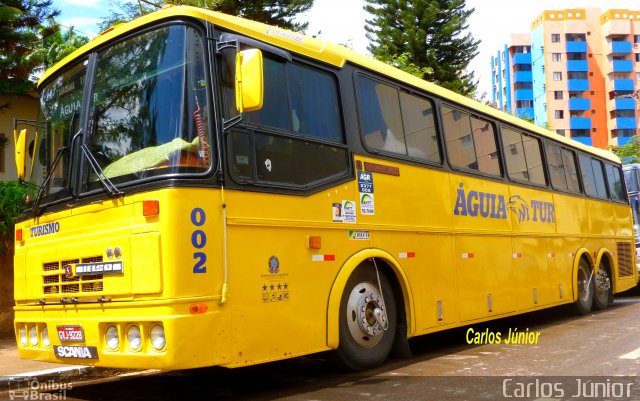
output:
[[[460,184],[456,194],[456,205],[453,214],[457,216],[483,217],[490,219],[507,218],[507,209],[511,210],[518,222],[534,221],[555,223],[553,203],[531,200],[531,205],[520,195],[513,195],[509,201],[503,195],[491,192],[469,191]]]

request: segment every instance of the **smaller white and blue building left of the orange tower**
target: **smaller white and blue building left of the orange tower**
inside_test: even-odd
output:
[[[491,57],[492,101],[500,110],[533,119],[531,35],[512,34],[511,42]]]

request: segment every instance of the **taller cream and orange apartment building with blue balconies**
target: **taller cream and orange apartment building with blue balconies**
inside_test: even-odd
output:
[[[600,148],[638,134],[640,11],[547,10],[531,23],[530,45],[536,124]],[[495,78],[492,58],[494,95],[500,84]],[[501,90],[515,101],[513,73],[502,82],[509,81],[511,87]]]

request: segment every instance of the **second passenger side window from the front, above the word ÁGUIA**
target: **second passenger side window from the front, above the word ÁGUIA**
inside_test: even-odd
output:
[[[500,175],[493,124],[449,106],[442,106],[442,126],[449,161],[455,167]]]

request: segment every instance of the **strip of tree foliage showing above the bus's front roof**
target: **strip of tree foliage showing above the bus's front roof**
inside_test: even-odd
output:
[[[237,15],[265,24],[286,28],[297,32],[304,32],[308,22],[296,20],[298,14],[308,11],[313,6],[313,0],[159,0],[158,7],[166,4],[188,5]],[[140,2],[116,3],[119,10],[105,19],[101,29],[109,28],[120,22],[131,21],[141,15],[157,9],[157,7]]]

